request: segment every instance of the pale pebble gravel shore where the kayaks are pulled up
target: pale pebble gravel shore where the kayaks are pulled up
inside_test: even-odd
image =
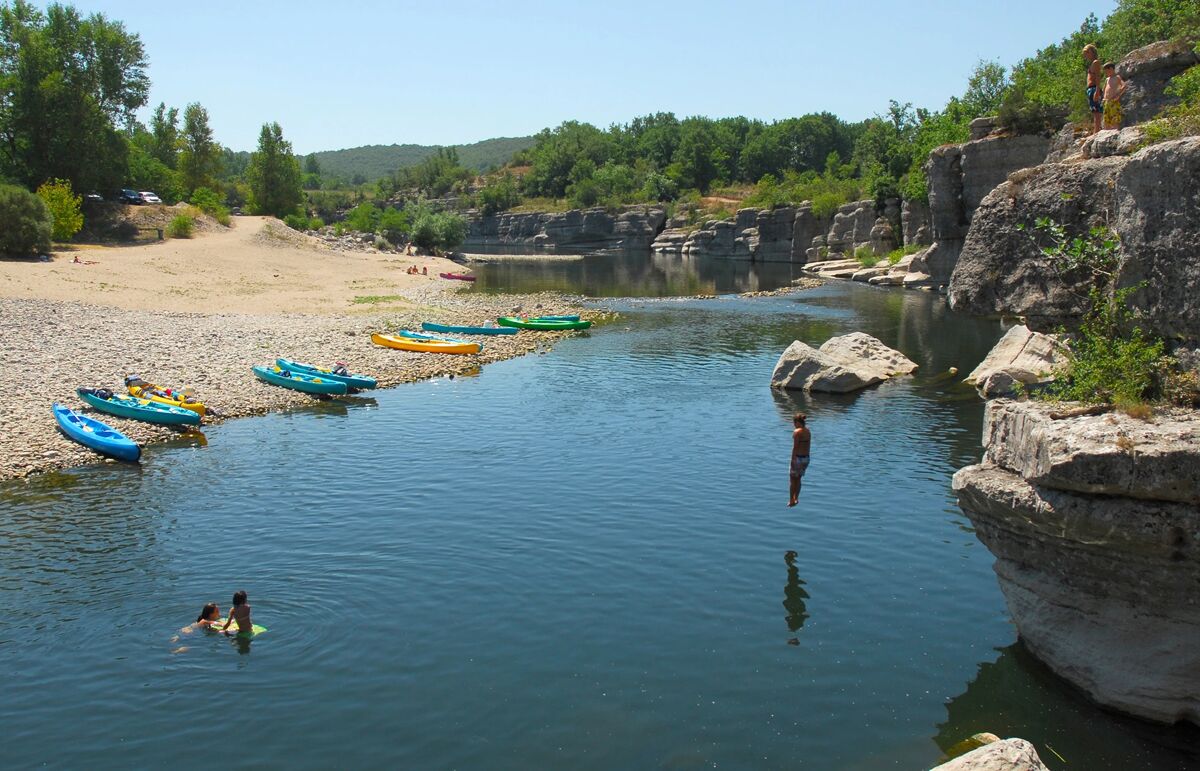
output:
[[[138,375],[164,387],[192,387],[197,398],[220,411],[220,418],[205,418],[211,424],[313,404],[313,396],[253,376],[252,365],[272,364],[276,357],[322,366],[346,361],[383,388],[468,372],[546,349],[577,333],[487,336],[478,355],[446,355],[383,348],[371,342],[373,331],[420,329],[422,321],[479,324],[518,310],[605,317],[602,311],[582,309],[577,298],[557,294],[486,295],[438,286],[413,288],[404,299],[419,310],[336,316],[179,313],[0,298],[0,480],[103,462],[58,431],[50,414],[55,401],[98,417],[139,444],[181,436],[175,429],[97,414],[76,395],[80,386],[125,393],[125,376]]]

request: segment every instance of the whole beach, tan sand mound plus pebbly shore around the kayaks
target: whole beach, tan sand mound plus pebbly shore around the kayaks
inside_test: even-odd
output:
[[[413,264],[431,275],[404,273]],[[138,375],[191,387],[220,420],[314,404],[254,378],[250,367],[276,357],[346,361],[386,387],[467,373],[570,334],[488,336],[478,355],[371,342],[372,331],[422,321],[478,324],[516,311],[581,310],[559,295],[475,294],[436,275],[456,268],[436,257],[334,251],[263,217],[238,217],[229,231],[188,240],[0,261],[0,480],[103,461],[64,437],[50,416],[54,401],[90,413],[74,393],[80,386],[124,393],[124,377]],[[187,436],[100,417],[139,443]]]

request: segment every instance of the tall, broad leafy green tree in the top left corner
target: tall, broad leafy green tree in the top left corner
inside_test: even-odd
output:
[[[30,187],[120,186],[126,139],[116,126],[132,121],[148,89],[142,41],[119,22],[0,2],[0,175]]]

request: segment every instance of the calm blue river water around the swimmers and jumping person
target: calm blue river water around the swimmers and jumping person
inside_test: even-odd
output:
[[[656,291],[788,277],[748,268]],[[640,270],[595,293],[650,292]],[[568,271],[538,280],[588,283]],[[980,730],[1055,769],[1195,761],[1194,734],[1093,709],[1015,644],[949,491],[983,406],[938,377],[997,322],[842,283],[616,305],[478,377],[0,486],[0,766],[922,769]],[[856,329],[920,375],[767,387],[792,340]],[[268,633],[173,641],[236,588]]]

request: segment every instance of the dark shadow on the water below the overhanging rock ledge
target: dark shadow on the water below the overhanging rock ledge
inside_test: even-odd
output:
[[[1081,763],[1115,771],[1200,767],[1200,729],[1108,713],[1098,730],[1096,712],[1084,694],[1014,642],[1000,649],[995,662],[980,664],[967,689],[950,699],[934,741],[947,752],[980,731],[1020,736],[1056,770],[1084,767]],[[1130,759],[1141,763],[1130,766]]]

